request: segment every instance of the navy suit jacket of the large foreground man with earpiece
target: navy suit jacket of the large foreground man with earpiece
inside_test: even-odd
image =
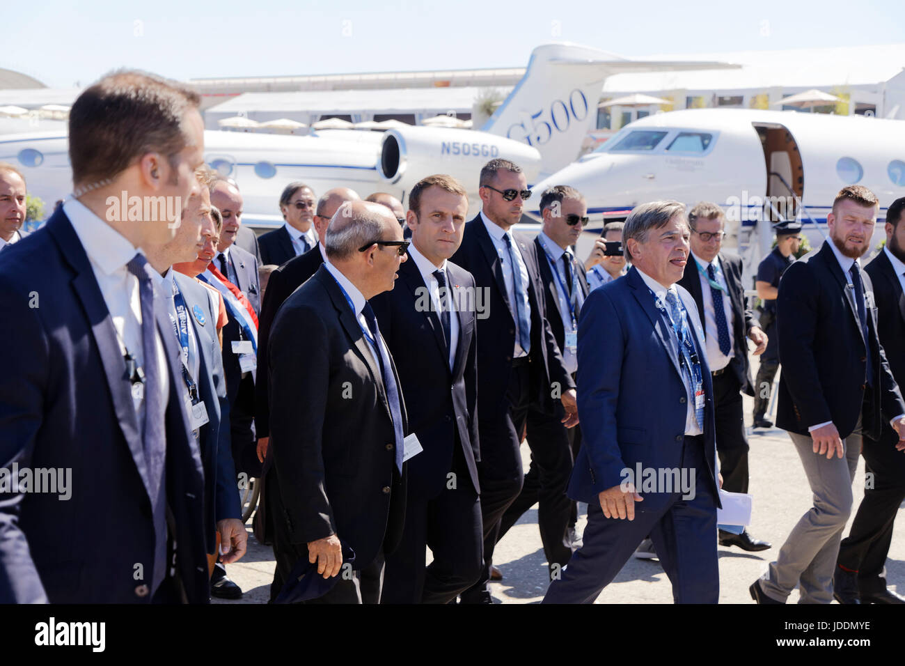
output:
[[[35,300],[39,298],[40,300]],[[205,478],[167,352],[167,504],[187,598],[205,603]],[[0,468],[71,470],[71,497],[0,491],[0,603],[149,603],[154,525],[132,384],[90,260],[62,208],[0,260]],[[135,565],[144,564],[137,580]]]

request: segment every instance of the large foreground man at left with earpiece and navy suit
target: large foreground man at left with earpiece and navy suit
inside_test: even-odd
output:
[[[119,207],[124,191],[159,203],[196,190],[198,102],[141,72],[82,92],[74,198],[0,261],[0,333],[18,341],[0,374],[0,467],[71,473],[70,497],[0,489],[0,603],[209,598],[202,463],[172,324],[138,251],[178,219]]]

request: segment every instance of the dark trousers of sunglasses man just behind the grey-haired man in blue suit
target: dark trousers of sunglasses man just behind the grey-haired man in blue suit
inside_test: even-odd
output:
[[[566,495],[574,463],[572,448],[567,428],[556,415],[529,410],[527,432],[531,467],[519,497],[502,516],[499,538],[538,503],[540,541],[552,574],[565,566],[572,556],[566,535],[574,506]]]

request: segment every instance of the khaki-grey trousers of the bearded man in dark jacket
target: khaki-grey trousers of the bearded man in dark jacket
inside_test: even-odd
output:
[[[798,520],[786,543],[779,550],[760,587],[770,598],[785,602],[799,585],[798,603],[832,603],[833,574],[839,541],[852,512],[852,481],[861,453],[861,420],[843,439],[843,458],[827,459],[814,453],[810,435],[790,432],[798,457],[805,467],[807,481],[814,493],[814,506]]]

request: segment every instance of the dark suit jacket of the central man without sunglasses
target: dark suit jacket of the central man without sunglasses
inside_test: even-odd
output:
[[[473,293],[474,278],[452,262],[447,262],[447,274],[452,303],[465,308],[469,301],[462,294]],[[399,266],[393,291],[370,300],[380,333],[393,352],[405,406],[411,415],[409,428],[424,448],[408,461],[409,494],[430,498],[443,491],[446,475],[452,471],[457,434],[472,485],[480,491],[475,464],[481,459],[476,414],[475,313],[473,309],[451,313],[459,318],[459,340],[450,370],[443,325],[438,313],[424,308],[425,299],[429,298],[426,294],[421,271],[409,256]]]

